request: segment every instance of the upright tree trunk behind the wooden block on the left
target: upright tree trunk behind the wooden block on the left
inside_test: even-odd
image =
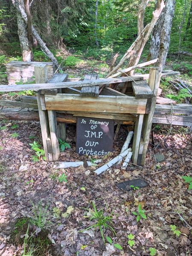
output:
[[[17,0],[20,6],[24,8],[23,0]],[[13,5],[15,5],[15,0],[12,0]],[[23,56],[23,61],[32,61],[32,50],[29,44],[26,31],[26,23],[21,17],[20,13],[17,12],[17,33],[20,41],[21,52]]]

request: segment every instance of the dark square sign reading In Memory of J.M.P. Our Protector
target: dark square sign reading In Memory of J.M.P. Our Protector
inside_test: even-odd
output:
[[[113,151],[114,120],[77,118],[76,152],[104,156]]]

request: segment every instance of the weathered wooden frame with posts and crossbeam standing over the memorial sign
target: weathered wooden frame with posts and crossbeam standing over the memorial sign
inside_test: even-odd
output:
[[[35,80],[37,84],[46,83],[46,66],[35,66]],[[58,130],[60,136],[65,133],[64,123],[57,125],[56,111],[72,113],[75,116],[87,116],[126,120],[128,123],[135,122],[133,156],[135,164],[145,163],[148,141],[150,137],[152,117],[154,114],[157,90],[160,83],[161,70],[151,68],[148,84],[143,78],[135,77],[130,79],[133,88],[133,96],[127,96],[109,87],[100,90],[102,84],[94,82],[93,77],[85,78],[90,81],[90,86],[81,87],[84,81],[75,80],[75,87],[67,87],[69,84],[66,75],[57,74],[48,81],[59,84],[59,89],[38,90],[38,111],[41,123],[41,133],[44,145],[45,156],[49,161],[57,161],[59,158]],[[59,78],[60,77],[60,78]],[[110,79],[109,79],[110,80]],[[64,81],[66,81],[64,83]],[[122,80],[121,80],[122,81]],[[62,85],[61,85],[62,84]],[[87,82],[87,85],[89,83]],[[47,86],[49,87],[49,86]],[[100,90],[100,94],[99,94]],[[63,131],[63,132],[61,132]]]

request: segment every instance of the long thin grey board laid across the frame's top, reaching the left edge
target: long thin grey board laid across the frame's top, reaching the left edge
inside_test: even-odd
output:
[[[15,92],[20,90],[41,90],[41,89],[56,89],[56,88],[70,88],[70,87],[84,87],[84,86],[94,86],[102,84],[115,84],[125,81],[132,80],[143,80],[139,76],[129,76],[129,77],[119,77],[110,79],[96,79],[91,81],[72,81],[72,82],[62,82],[62,83],[42,83],[42,84],[17,84],[17,85],[0,85],[1,92]]]

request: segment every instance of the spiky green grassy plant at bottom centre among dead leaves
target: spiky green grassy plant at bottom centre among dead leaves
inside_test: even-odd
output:
[[[100,234],[102,236],[103,242],[105,243],[105,238],[104,238],[104,231],[107,229],[110,229],[113,233],[113,235],[116,235],[115,230],[113,229],[113,227],[111,227],[113,225],[113,222],[111,221],[112,217],[112,213],[110,215],[104,215],[103,209],[96,209],[95,203],[92,201],[92,205],[93,205],[93,210],[89,210],[89,216],[84,216],[84,217],[88,217],[90,219],[90,221],[94,221],[95,223],[93,225],[91,225],[90,227],[87,227],[84,230],[89,230],[91,228],[97,228],[99,227],[99,231]],[[82,230],[81,232],[83,232],[84,230]]]

